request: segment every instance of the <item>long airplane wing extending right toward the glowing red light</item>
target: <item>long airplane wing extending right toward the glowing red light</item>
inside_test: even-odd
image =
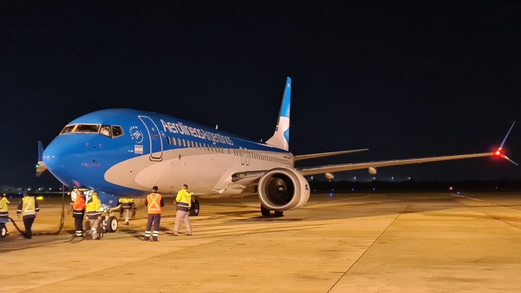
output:
[[[404,160],[389,160],[389,161],[362,162],[362,163],[350,163],[350,164],[339,164],[339,165],[324,165],[324,166],[316,166],[316,167],[302,167],[302,168],[295,168],[295,169],[297,171],[299,171],[300,174],[306,176],[306,175],[333,173],[333,172],[357,170],[357,169],[365,169],[365,168],[377,168],[377,167],[419,164],[419,163],[437,162],[437,161],[460,160],[462,158],[486,157],[486,156],[494,156],[494,155],[498,155],[498,156],[506,158],[506,156],[504,156],[503,154],[497,154],[496,152],[491,152],[491,153],[453,155],[453,156],[407,158]]]

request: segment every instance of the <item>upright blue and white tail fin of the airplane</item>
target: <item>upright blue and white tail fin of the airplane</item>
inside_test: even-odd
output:
[[[290,143],[290,104],[291,104],[291,78],[286,79],[286,87],[282,95],[279,120],[273,136],[266,141],[267,144],[277,148],[289,150]]]

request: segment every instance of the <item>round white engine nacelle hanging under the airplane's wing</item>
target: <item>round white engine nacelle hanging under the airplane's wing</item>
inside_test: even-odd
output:
[[[309,184],[300,173],[289,168],[268,170],[259,180],[259,200],[271,211],[287,211],[306,204]]]

